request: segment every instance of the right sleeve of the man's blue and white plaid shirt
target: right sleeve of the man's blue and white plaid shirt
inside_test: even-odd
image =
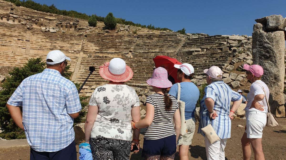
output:
[[[80,104],[80,97],[78,96],[78,91],[76,90],[76,86],[73,84],[69,92],[66,96],[66,107],[67,113],[73,114],[80,112],[82,106]]]

